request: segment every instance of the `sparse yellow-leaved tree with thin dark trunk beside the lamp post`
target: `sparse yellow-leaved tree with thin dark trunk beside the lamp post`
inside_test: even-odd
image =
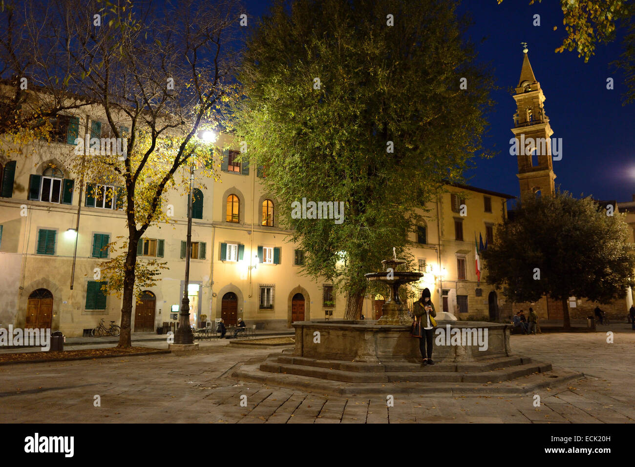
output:
[[[34,0],[11,4],[11,11],[39,8]],[[80,124],[90,133],[88,154],[80,134],[77,152],[58,158],[81,179],[80,194],[85,189],[110,202],[114,198],[125,213],[123,258],[107,261],[104,273],[109,289],[123,294],[119,346],[127,347],[135,290],[152,283],[160,268],[137,266],[138,242],[151,225],[171,221],[164,197],[185,192],[190,166],[196,165],[199,178],[217,177],[218,150],[198,136],[217,127],[236,87],[234,51],[227,44],[239,27],[237,4],[60,0],[44,11],[39,22],[23,24],[20,56],[33,63],[25,70],[40,84],[39,95],[59,95],[63,105],[90,105],[86,112],[102,121],[101,128]],[[42,43],[53,62],[38,61],[43,48],[33,48]],[[104,150],[102,136],[122,142],[123,150]],[[114,185],[119,193],[102,195],[97,183]],[[179,326],[189,323],[182,319]]]

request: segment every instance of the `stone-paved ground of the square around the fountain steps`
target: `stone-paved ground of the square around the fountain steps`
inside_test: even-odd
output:
[[[585,378],[534,397],[331,397],[231,378],[276,348],[0,366],[2,423],[632,423],[635,331],[511,336],[514,352]],[[100,406],[96,407],[98,396]],[[241,406],[241,401],[243,405]]]

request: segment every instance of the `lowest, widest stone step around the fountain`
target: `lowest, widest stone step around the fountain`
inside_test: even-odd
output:
[[[261,371],[258,365],[255,364],[243,365],[232,374],[232,377],[243,381],[257,381],[268,386],[281,386],[325,395],[347,397],[354,395],[380,395],[386,397],[386,395],[390,394],[439,396],[535,394],[537,391],[545,390],[546,388],[556,388],[570,381],[584,378],[584,375],[576,371],[559,368],[557,371],[537,372],[500,383],[497,380],[491,380],[491,383],[430,381],[425,383],[345,383],[314,376]]]

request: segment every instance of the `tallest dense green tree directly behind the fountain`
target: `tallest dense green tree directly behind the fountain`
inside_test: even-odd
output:
[[[482,150],[493,84],[464,26],[441,0],[280,0],[246,45],[233,128],[347,319],[364,273],[404,254],[416,208]],[[294,218],[303,198],[307,217],[311,201],[343,202],[342,223]]]

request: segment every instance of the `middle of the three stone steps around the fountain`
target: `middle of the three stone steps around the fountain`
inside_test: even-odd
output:
[[[427,368],[424,367],[424,370]],[[298,364],[280,364],[265,360],[260,365],[260,371],[296,374],[298,376],[310,376],[312,378],[329,379],[345,383],[491,383],[493,381],[508,381],[535,372],[551,370],[550,364],[521,364],[504,369],[483,372],[456,372],[456,371],[394,371],[394,372],[359,372],[345,371],[324,367],[314,367]]]

